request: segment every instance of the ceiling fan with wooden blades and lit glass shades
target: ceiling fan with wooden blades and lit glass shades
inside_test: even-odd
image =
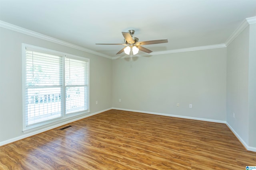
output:
[[[128,30],[128,33],[122,32],[124,36],[124,44],[98,44],[98,45],[124,45],[126,47],[122,48],[118,53],[121,54],[122,52],[126,54],[130,54],[132,51],[133,55],[136,55],[139,50],[144,51],[146,53],[151,53],[152,51],[149,49],[146,49],[145,47],[142,47],[141,45],[149,45],[149,44],[160,44],[160,43],[168,43],[168,39],[158,39],[158,40],[151,40],[151,41],[139,41],[137,37],[133,37],[134,30]]]

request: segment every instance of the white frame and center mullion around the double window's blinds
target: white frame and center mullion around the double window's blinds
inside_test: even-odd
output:
[[[46,121],[42,121],[39,123],[34,123],[32,125],[27,125],[26,124],[26,49],[34,49],[36,52],[40,52],[40,53],[47,53],[47,54],[51,54],[51,55],[58,55],[62,57],[62,85],[61,86],[61,90],[62,90],[62,99],[61,99],[61,116],[54,118],[54,119],[50,119],[50,120],[46,120]],[[74,113],[66,113],[66,87],[69,87],[68,85],[66,86],[65,83],[65,59],[66,58],[70,58],[70,59],[75,59],[75,60],[80,60],[80,61],[85,61],[88,63],[87,65],[87,77],[88,77],[88,84],[85,86],[88,89],[88,92],[85,94],[85,103],[87,103],[87,110],[83,110],[83,111],[77,111]],[[71,55],[71,54],[67,54],[67,53],[63,53],[60,51],[54,51],[51,49],[46,49],[46,48],[42,48],[42,47],[37,47],[34,45],[29,45],[29,44],[25,44],[22,43],[22,116],[23,116],[23,133],[29,132],[29,131],[33,131],[35,129],[41,129],[43,127],[48,127],[49,125],[53,125],[53,124],[57,124],[57,123],[61,123],[64,121],[68,121],[69,119],[72,119],[73,117],[77,117],[77,116],[81,116],[81,115],[85,115],[86,113],[90,112],[90,59],[86,58],[86,57],[80,57],[80,56],[76,56],[76,55]],[[87,102],[86,102],[86,98],[87,98]],[[86,104],[85,104],[86,105]]]

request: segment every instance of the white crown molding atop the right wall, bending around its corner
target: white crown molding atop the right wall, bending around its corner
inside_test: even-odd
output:
[[[246,18],[237,28],[236,30],[230,35],[228,40],[226,41],[226,46],[230,45],[230,43],[236,39],[236,37],[249,25],[256,23],[256,17]]]

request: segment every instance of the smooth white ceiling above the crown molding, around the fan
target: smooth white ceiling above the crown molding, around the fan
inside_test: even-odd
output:
[[[224,44],[254,16],[256,0],[0,0],[0,20],[110,57],[123,46],[95,43],[124,43],[129,29],[139,41],[168,39],[144,47],[171,51]]]

